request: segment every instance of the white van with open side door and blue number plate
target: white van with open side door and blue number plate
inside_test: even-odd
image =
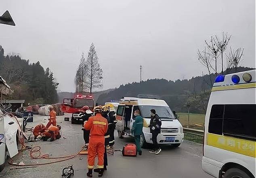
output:
[[[124,97],[120,100],[116,113],[116,129],[119,138],[124,134],[130,134],[134,121],[134,111],[141,111],[143,117],[143,134],[141,134],[141,147],[152,142],[152,134],[149,130],[150,110],[155,109],[157,115],[162,120],[161,134],[157,136],[159,144],[172,144],[174,147],[180,146],[184,140],[183,127],[174,117],[170,107],[164,100]]]

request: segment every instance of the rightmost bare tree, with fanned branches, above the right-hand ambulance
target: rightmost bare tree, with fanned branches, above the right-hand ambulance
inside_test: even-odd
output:
[[[243,57],[244,48],[238,48],[236,50],[232,50],[230,47],[229,56],[227,57],[230,65],[235,68],[235,72],[237,72],[237,67],[241,62],[241,58]]]

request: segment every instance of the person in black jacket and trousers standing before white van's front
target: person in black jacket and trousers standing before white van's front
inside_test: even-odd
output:
[[[159,116],[156,114],[155,109],[150,110],[150,133],[152,134],[152,142],[153,142],[153,150],[149,151],[149,153],[159,154],[162,150],[160,149],[157,143],[157,135],[161,133],[162,121]]]

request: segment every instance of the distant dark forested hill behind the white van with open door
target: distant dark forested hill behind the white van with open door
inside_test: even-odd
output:
[[[237,71],[248,71],[252,68],[239,67]],[[227,73],[234,73],[229,70]],[[212,81],[215,75],[212,74]],[[141,83],[121,85],[119,88],[107,94],[101,94],[97,103],[104,104],[110,99],[119,100],[122,97],[137,97],[138,94],[156,94],[164,99],[170,108],[178,112],[186,112],[187,104],[190,104],[192,113],[205,113],[208,99],[210,96],[210,77],[209,75],[192,77],[190,80],[168,81],[165,79],[151,79]]]

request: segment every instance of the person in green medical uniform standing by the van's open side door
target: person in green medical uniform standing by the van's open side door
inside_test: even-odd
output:
[[[142,151],[141,151],[140,140],[141,140],[141,133],[143,128],[143,118],[141,117],[141,112],[139,110],[136,110],[134,112],[134,116],[135,116],[135,121],[132,124],[131,134],[134,135],[137,152],[139,155],[141,155]]]

